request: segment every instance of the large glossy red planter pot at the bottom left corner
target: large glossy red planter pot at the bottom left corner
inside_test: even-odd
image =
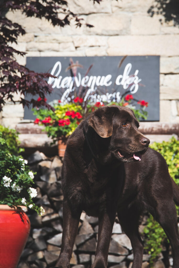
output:
[[[16,268],[29,232],[25,213],[0,205],[0,268]]]

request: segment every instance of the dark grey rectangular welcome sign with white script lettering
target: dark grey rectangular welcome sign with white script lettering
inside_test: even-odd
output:
[[[72,75],[70,58],[78,61],[76,76]],[[35,72],[49,72],[57,78],[49,78],[53,93],[47,96],[47,102],[54,99],[63,101],[68,97],[75,84],[88,87],[86,98],[90,91],[94,91],[93,100],[108,101],[111,94],[120,100],[129,91],[135,99],[149,103],[147,121],[159,121],[159,56],[127,56],[120,68],[123,57],[27,57],[27,68]],[[89,67],[89,72],[86,75]],[[95,92],[96,91],[96,92]],[[101,92],[99,94],[99,91]],[[114,93],[115,92],[115,93]],[[27,97],[28,99],[31,96]],[[38,98],[38,96],[36,97]],[[34,119],[32,111],[25,107],[24,119]]]

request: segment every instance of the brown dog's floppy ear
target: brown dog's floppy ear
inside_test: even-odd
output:
[[[91,126],[102,138],[112,135],[112,116],[115,112],[114,106],[103,106],[94,111],[89,118]]]

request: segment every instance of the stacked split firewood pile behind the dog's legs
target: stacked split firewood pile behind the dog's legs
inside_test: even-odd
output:
[[[62,161],[63,158],[57,156],[48,158],[39,151],[28,157],[30,169],[36,172],[34,188],[37,189],[38,195],[34,201],[44,207],[45,214],[40,217],[33,210],[28,211],[31,231],[18,268],[49,268],[55,265],[59,256],[63,230],[63,193],[60,181]],[[141,234],[146,221],[147,214],[141,219],[139,227]],[[85,212],[82,212],[70,261],[71,266],[91,267],[96,250],[97,232],[98,219],[88,217]],[[163,250],[165,251],[165,248]],[[148,267],[148,260],[149,255],[144,252],[142,268]],[[133,251],[130,240],[123,233],[116,217],[109,246],[108,267],[131,268],[132,261]],[[172,263],[171,256],[170,262]],[[162,254],[154,267],[168,267],[164,265]]]

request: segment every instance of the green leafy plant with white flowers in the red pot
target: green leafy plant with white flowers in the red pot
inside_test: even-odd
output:
[[[27,160],[12,154],[2,132],[0,148],[0,204],[26,206],[42,214],[43,208],[32,201],[37,192],[32,188],[34,173],[29,170]]]

